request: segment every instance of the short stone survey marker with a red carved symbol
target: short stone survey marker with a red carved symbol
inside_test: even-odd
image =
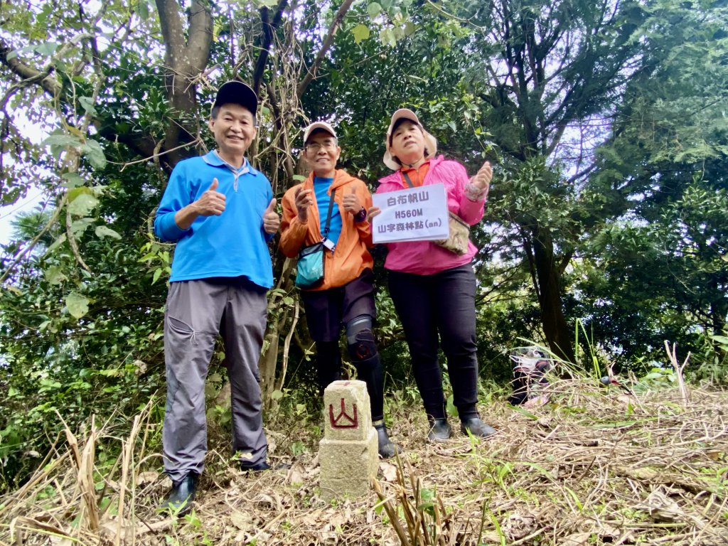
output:
[[[333,381],[323,393],[324,438],[319,444],[321,496],[360,496],[379,468],[364,381]]]

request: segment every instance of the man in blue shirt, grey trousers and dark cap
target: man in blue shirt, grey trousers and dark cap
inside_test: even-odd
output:
[[[280,217],[265,175],[245,159],[256,136],[258,98],[242,82],[218,89],[209,127],[217,149],[175,166],[154,231],[177,242],[165,309],[167,406],[162,508],[191,510],[207,452],[205,379],[215,340],[225,346],[232,396],[232,448],[243,470],[267,470],[258,357],[273,285],[268,241]]]

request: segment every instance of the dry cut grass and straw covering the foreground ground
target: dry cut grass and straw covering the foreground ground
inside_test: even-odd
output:
[[[146,453],[146,414],[105,477],[92,472],[104,435],[92,424],[0,499],[0,545],[728,543],[728,393],[692,389],[685,405],[678,389],[552,389],[531,413],[483,406],[501,432],[482,442],[428,445],[422,412],[400,409],[393,432],[405,455],[380,465],[383,501],[372,491],[323,502],[315,453],[274,453],[293,466],[247,477],[211,452],[197,510],[180,520],[154,510],[168,485],[148,470],[159,459]],[[304,433],[272,432],[274,452]]]

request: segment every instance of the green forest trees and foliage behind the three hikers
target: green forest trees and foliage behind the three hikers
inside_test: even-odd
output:
[[[234,78],[261,99],[248,157],[279,198],[318,119],[372,190],[400,107],[470,173],[495,165],[472,231],[484,381],[505,392],[508,352],[531,342],[583,371],[660,373],[670,340],[689,379],[724,382],[727,28],[709,0],[0,2],[0,201],[44,193],[1,248],[0,489],[59,414],[124,436],[151,399],[161,420],[173,245],[151,219],[175,163],[213,147],[210,102]],[[301,411],[312,342],[276,244],[261,380],[269,411]],[[376,258],[392,392],[410,371]]]

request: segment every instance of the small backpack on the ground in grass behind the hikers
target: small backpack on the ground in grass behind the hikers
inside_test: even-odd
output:
[[[510,353],[513,360],[513,393],[508,397],[512,405],[542,405],[548,400],[544,390],[549,382],[547,371],[553,360],[538,347],[516,347]]]

